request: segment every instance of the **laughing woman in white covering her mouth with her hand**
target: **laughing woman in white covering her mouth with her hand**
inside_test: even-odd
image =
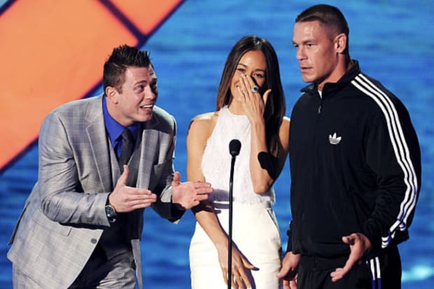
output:
[[[193,209],[193,289],[228,287],[232,139],[241,141],[232,187],[232,288],[279,288],[281,238],[272,185],[288,153],[285,112],[274,48],[258,36],[241,38],[225,62],[216,111],[197,115],[188,130],[188,180],[207,181],[214,188],[209,200]]]

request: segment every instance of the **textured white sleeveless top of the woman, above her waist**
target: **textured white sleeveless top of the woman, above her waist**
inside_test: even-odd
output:
[[[232,186],[233,202],[257,204],[270,202],[274,204],[274,190],[258,195],[253,192],[250,174],[250,143],[251,126],[246,115],[235,115],[227,106],[218,113],[216,127],[207,140],[207,146],[202,156],[202,173],[205,180],[211,183],[214,193],[211,201],[228,202],[230,163],[229,143],[232,139],[241,142],[239,155],[235,160]]]

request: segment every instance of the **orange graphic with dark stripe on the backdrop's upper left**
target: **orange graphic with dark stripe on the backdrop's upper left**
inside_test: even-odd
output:
[[[99,85],[114,47],[143,45],[182,0],[15,1],[0,15],[0,171],[53,108]]]

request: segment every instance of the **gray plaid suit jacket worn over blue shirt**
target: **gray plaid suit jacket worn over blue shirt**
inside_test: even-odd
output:
[[[42,288],[68,288],[110,226],[104,206],[120,169],[106,135],[102,97],[59,106],[41,127],[38,182],[10,238],[8,259]],[[127,181],[157,194],[153,209],[171,221],[183,214],[170,203],[175,136],[172,115],[154,107],[153,118],[141,124]],[[143,210],[128,214],[141,288],[143,219]]]

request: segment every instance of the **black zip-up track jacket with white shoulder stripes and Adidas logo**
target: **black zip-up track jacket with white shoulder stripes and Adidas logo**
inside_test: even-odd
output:
[[[360,71],[302,89],[291,115],[288,251],[349,254],[342,237],[360,232],[372,252],[409,238],[421,182],[416,132],[405,106]]]

